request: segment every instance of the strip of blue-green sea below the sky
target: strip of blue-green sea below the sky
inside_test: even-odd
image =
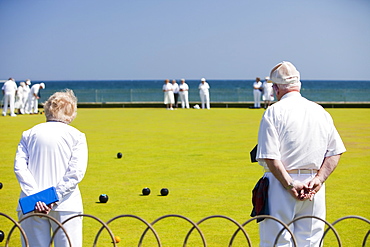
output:
[[[163,80],[68,80],[44,82],[41,102],[54,92],[72,89],[80,103],[163,102]],[[180,83],[180,81],[177,81]],[[254,80],[207,80],[211,103],[253,102]],[[315,102],[370,102],[370,81],[302,80],[301,94]],[[200,80],[186,80],[189,101],[200,101]],[[2,83],[0,83],[1,86]],[[19,82],[17,82],[19,84]]]

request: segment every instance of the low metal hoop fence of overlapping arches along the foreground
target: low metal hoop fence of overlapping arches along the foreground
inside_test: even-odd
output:
[[[292,232],[292,230],[289,228],[290,225],[294,224],[295,222],[297,221],[300,221],[300,220],[303,220],[303,219],[316,219],[316,220],[319,220],[319,221],[322,221],[326,226],[327,226],[327,229],[324,231],[324,234],[321,238],[321,241],[320,241],[320,246],[322,246],[323,244],[323,241],[324,241],[324,238],[327,236],[327,233],[329,231],[332,231],[335,235],[335,238],[336,238],[336,241],[337,241],[337,244],[338,246],[342,246],[342,242],[341,242],[341,239],[340,239],[340,236],[339,236],[339,233],[338,231],[335,229],[335,225],[339,222],[342,222],[344,220],[348,220],[348,219],[355,219],[355,220],[360,220],[360,221],[363,221],[365,223],[367,223],[369,225],[369,230],[367,231],[367,233],[365,234],[364,236],[364,239],[362,241],[362,246],[365,247],[367,242],[368,242],[368,238],[369,238],[369,235],[370,235],[370,220],[364,218],[364,217],[361,217],[361,216],[356,216],[356,215],[350,215],[350,216],[345,216],[345,217],[342,217],[336,221],[334,221],[333,223],[329,223],[328,221],[324,220],[324,219],[321,219],[319,217],[316,217],[316,216],[301,216],[301,217],[297,217],[295,218],[294,220],[292,220],[291,222],[289,222],[288,224],[285,224],[284,222],[282,222],[281,220],[273,217],[273,216],[270,216],[270,215],[259,215],[259,216],[256,216],[256,217],[253,217],[253,218],[250,218],[248,219],[247,221],[245,221],[243,224],[240,224],[239,222],[237,222],[236,220],[230,218],[230,217],[227,217],[227,216],[224,216],[224,215],[211,215],[211,216],[208,216],[208,217],[205,217],[203,219],[201,219],[200,221],[198,222],[194,222],[192,221],[191,219],[185,217],[185,216],[182,216],[182,215],[178,215],[178,214],[169,214],[169,215],[164,215],[164,216],[161,216],[159,218],[157,218],[156,220],[154,220],[153,222],[151,223],[148,223],[145,219],[139,217],[139,216],[136,216],[136,215],[131,215],[131,214],[123,214],[123,215],[118,215],[116,217],[113,217],[112,219],[108,220],[107,222],[104,222],[102,220],[100,220],[98,217],[96,216],[93,216],[93,215],[89,215],[89,214],[78,214],[78,215],[74,215],[70,218],[68,218],[67,220],[65,220],[64,222],[60,223],[58,222],[56,219],[54,219],[53,217],[49,216],[49,215],[45,215],[45,214],[40,214],[40,213],[33,213],[33,214],[30,214],[30,215],[27,215],[25,216],[24,218],[22,218],[21,220],[19,221],[16,221],[14,220],[13,218],[11,218],[10,216],[4,214],[4,213],[1,213],[0,212],[0,216],[3,216],[5,217],[6,219],[8,219],[9,221],[12,222],[13,224],[13,227],[10,229],[9,233],[7,234],[7,237],[6,237],[6,242],[5,242],[5,246],[4,247],[9,247],[9,242],[10,242],[10,238],[11,236],[13,235],[13,232],[14,230],[17,228],[19,229],[20,231],[20,234],[21,234],[21,237],[24,241],[24,244],[25,246],[29,247],[29,240],[26,236],[26,233],[24,231],[24,229],[22,228],[21,226],[21,223],[22,221],[28,219],[28,218],[31,218],[31,217],[45,217],[47,218],[48,220],[54,222],[55,224],[58,225],[58,227],[55,229],[55,231],[52,233],[51,235],[51,240],[50,240],[50,247],[53,245],[53,242],[54,242],[54,238],[55,238],[55,234],[60,230],[62,229],[64,234],[66,235],[67,237],[67,240],[68,240],[68,243],[69,243],[69,246],[70,247],[73,247],[72,246],[72,243],[71,243],[71,240],[70,240],[70,236],[68,236],[67,234],[67,231],[64,227],[64,224],[66,224],[67,222],[69,222],[70,220],[76,218],[76,217],[87,217],[87,218],[92,218],[94,219],[95,221],[97,221],[99,224],[101,224],[101,228],[98,230],[98,232],[96,233],[95,235],[95,239],[94,239],[94,242],[93,242],[93,247],[97,247],[98,246],[98,239],[102,233],[103,230],[106,230],[109,234],[109,237],[111,238],[112,240],[112,245],[114,247],[117,247],[117,242],[115,240],[115,236],[114,236],[114,233],[113,231],[110,229],[109,227],[109,224],[112,223],[113,221],[116,221],[118,219],[121,219],[121,218],[132,218],[132,219],[135,219],[135,220],[138,220],[140,221],[141,223],[143,223],[146,228],[145,230],[143,231],[143,233],[141,234],[140,236],[140,239],[139,239],[139,242],[138,242],[138,247],[141,247],[143,245],[143,241],[145,239],[145,236],[147,234],[147,232],[150,230],[152,232],[152,234],[154,235],[155,237],[155,240],[157,242],[157,245],[159,247],[162,247],[162,242],[160,240],[160,236],[159,234],[157,233],[157,231],[155,230],[154,226],[155,224],[157,224],[158,222],[164,220],[164,219],[167,219],[167,218],[179,218],[179,219],[182,219],[182,220],[185,220],[186,222],[188,222],[190,225],[191,225],[191,228],[189,229],[189,231],[187,232],[186,236],[185,236],[185,239],[183,241],[183,244],[182,246],[183,247],[186,247],[187,244],[188,244],[188,240],[189,240],[189,237],[191,236],[192,232],[194,230],[196,230],[201,238],[201,241],[202,241],[202,244],[204,247],[207,247],[207,241],[206,241],[206,238],[205,238],[205,235],[203,233],[203,231],[201,230],[201,224],[205,221],[209,221],[209,220],[212,220],[212,219],[223,219],[223,220],[226,220],[228,222],[231,222],[233,223],[235,226],[237,226],[237,230],[231,235],[231,238],[230,238],[230,241],[229,241],[229,244],[228,244],[228,247],[232,247],[233,246],[233,243],[234,243],[234,240],[235,240],[235,237],[238,235],[239,232],[242,232],[243,236],[245,237],[245,243],[248,244],[249,247],[252,246],[252,241],[250,239],[250,237],[248,236],[248,233],[247,231],[244,229],[244,227],[249,224],[250,222],[253,222],[257,219],[261,219],[261,218],[264,218],[264,219],[269,219],[269,220],[273,220],[273,221],[276,221],[277,223],[279,223],[281,226],[282,226],[282,229],[280,230],[280,232],[277,234],[276,238],[275,238],[275,242],[274,242],[274,245],[273,246],[277,246],[277,243],[278,243],[278,239],[280,237],[280,235],[284,232],[284,231],[287,231],[290,236],[291,236],[291,242],[294,246],[298,247],[297,245],[297,240],[296,240],[296,237],[294,236],[294,233]],[[32,246],[31,246],[32,247]]]

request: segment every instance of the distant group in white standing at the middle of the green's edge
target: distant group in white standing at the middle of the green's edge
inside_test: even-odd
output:
[[[199,96],[202,102],[202,109],[210,109],[209,99],[209,84],[205,78],[200,80],[199,84]],[[180,96],[182,108],[189,109],[189,85],[185,82],[185,79],[180,80],[180,85],[177,84],[176,80],[172,80],[170,83],[169,79],[164,81],[162,90],[164,92],[164,104],[167,106],[167,110],[173,110],[178,107],[178,96]],[[195,105],[194,108],[197,108]],[[200,108],[198,106],[198,108]]]

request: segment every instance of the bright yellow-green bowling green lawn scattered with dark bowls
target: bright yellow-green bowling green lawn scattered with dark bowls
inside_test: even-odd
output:
[[[358,215],[370,219],[370,109],[327,109],[346,145],[338,168],[326,182],[327,220]],[[264,110],[252,109],[79,109],[72,126],[84,132],[89,146],[89,165],[80,184],[86,214],[106,222],[119,215],[135,215],[147,222],[176,214],[193,222],[223,215],[243,224],[250,219],[251,191],[262,169],[251,163],[249,151],[257,142]],[[0,119],[0,212],[17,219],[19,185],[13,173],[13,159],[22,131],[44,122],[44,115]],[[116,154],[122,152],[121,159]],[[151,189],[142,196],[144,187]],[[161,188],[168,196],[160,196]],[[100,194],[109,201],[98,203]],[[12,224],[0,216],[0,229],[7,234]],[[121,237],[117,246],[137,246],[146,226],[133,217],[109,224]],[[93,246],[101,225],[84,218],[84,246]],[[154,225],[162,246],[182,246],[192,225],[183,218],[169,217]],[[224,218],[200,224],[208,246],[228,246],[237,229]],[[336,229],[343,246],[361,246],[369,225],[345,220]],[[245,226],[258,246],[258,225]],[[19,246],[15,231],[10,246]],[[325,246],[338,246],[330,232]],[[369,241],[368,241],[369,242]],[[369,244],[369,243],[368,243]],[[4,246],[5,241],[0,243]],[[97,246],[113,246],[103,231]],[[149,231],[142,246],[158,246]],[[193,231],[188,246],[203,246]],[[233,246],[248,246],[241,232]]]

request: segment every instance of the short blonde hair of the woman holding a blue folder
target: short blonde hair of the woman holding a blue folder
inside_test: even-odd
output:
[[[47,121],[71,123],[77,115],[77,97],[71,89],[56,92],[44,103]]]

